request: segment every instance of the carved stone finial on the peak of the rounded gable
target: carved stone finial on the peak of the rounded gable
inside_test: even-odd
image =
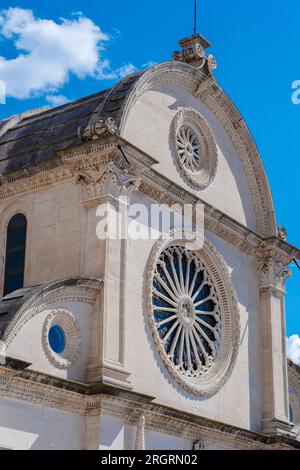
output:
[[[205,55],[205,50],[211,46],[211,43],[200,34],[190,36],[179,41],[182,48],[181,52],[174,52],[173,60],[176,62],[185,62],[193,67],[201,69],[206,75],[212,75],[217,68],[217,61],[212,55]]]

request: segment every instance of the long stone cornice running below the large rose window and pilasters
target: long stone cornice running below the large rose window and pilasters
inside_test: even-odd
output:
[[[300,449],[300,442],[286,437],[269,437],[229,424],[176,410],[153,397],[102,385],[83,384],[48,376],[28,368],[0,366],[0,396],[61,409],[82,416],[93,410],[121,417],[137,426],[141,415],[145,429],[182,439],[233,449]]]

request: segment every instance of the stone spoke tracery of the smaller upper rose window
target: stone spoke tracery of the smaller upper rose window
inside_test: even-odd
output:
[[[177,152],[181,164],[190,172],[201,170],[202,159],[199,153],[199,143],[189,127],[181,127],[177,133]]]

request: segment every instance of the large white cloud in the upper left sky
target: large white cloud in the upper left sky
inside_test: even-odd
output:
[[[135,71],[132,64],[112,70],[103,60],[110,36],[92,20],[77,13],[59,22],[36,18],[31,10],[0,11],[0,38],[11,40],[18,51],[13,59],[0,56],[0,80],[7,96],[25,99],[48,95],[48,101],[63,100],[57,91],[73,74],[82,79],[120,79]],[[50,98],[50,99],[49,99]]]

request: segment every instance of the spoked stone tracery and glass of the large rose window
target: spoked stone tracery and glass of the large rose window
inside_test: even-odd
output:
[[[188,377],[207,372],[220,345],[221,313],[213,282],[195,253],[176,246],[161,254],[152,308],[158,336],[173,366]]]

